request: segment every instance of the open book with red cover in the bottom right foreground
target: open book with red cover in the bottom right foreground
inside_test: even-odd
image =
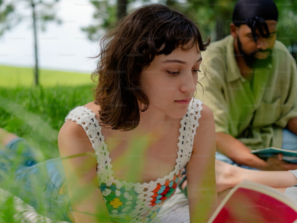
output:
[[[244,180],[219,204],[208,223],[297,223],[297,202],[274,188]]]

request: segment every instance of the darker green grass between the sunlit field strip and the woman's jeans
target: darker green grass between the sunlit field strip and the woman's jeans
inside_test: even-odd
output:
[[[57,136],[68,112],[93,100],[91,85],[0,89],[0,127],[57,156]]]

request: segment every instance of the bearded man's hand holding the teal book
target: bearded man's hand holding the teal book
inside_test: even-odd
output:
[[[268,166],[262,170],[289,170],[289,169],[297,169],[297,164],[290,163],[287,161],[283,161],[283,154],[279,153],[277,156],[269,157],[266,160]]]

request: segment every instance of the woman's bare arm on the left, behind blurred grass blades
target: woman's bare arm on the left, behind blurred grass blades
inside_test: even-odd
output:
[[[58,136],[75,223],[110,222],[97,180],[97,161],[80,125],[67,120]]]

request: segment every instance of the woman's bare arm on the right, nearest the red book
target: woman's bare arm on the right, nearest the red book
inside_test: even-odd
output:
[[[207,222],[217,207],[214,116],[202,106],[192,156],[187,164],[190,222]]]

